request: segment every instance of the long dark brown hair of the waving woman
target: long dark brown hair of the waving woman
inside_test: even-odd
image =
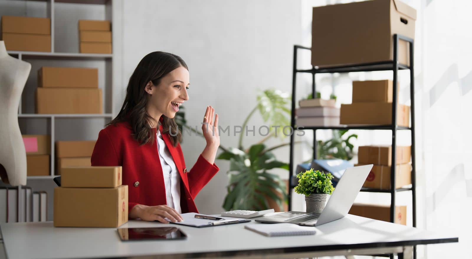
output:
[[[128,122],[136,141],[141,145],[153,142],[156,136],[150,125],[155,123],[159,126],[159,122],[147,113],[148,98],[144,88],[149,81],[152,81],[154,86],[158,86],[161,78],[180,66],[188,70],[184,60],[171,53],[155,51],[145,55],[129,78],[125,102],[121,110],[117,117],[107,125]],[[175,147],[182,140],[182,133],[178,129],[174,118],[168,118],[164,115],[162,115],[162,118],[162,134],[169,133],[170,129],[170,140]]]

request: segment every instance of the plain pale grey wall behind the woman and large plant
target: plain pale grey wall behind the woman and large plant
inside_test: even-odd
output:
[[[300,1],[125,0],[122,4],[123,91],[144,55],[161,50],[181,56],[190,71],[190,100],[185,105],[189,125],[201,127],[207,105],[215,108],[221,126],[241,125],[255,105],[257,89],[291,91],[293,45],[299,44],[301,34]],[[257,128],[262,119],[254,116],[249,125]],[[221,145],[236,147],[238,136],[232,133],[221,136]],[[244,143],[247,147],[261,138],[251,135]],[[188,169],[204,145],[204,139],[184,135]],[[281,153],[278,158],[288,162],[287,150]],[[228,162],[216,164],[219,173],[196,198],[204,213],[221,212],[226,195]]]

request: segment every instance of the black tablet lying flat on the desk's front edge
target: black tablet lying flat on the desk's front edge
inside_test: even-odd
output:
[[[118,235],[122,241],[139,240],[176,240],[185,239],[187,235],[179,228],[118,228]]]

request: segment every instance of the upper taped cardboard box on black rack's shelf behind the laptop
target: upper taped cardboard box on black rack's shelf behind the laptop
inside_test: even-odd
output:
[[[396,165],[410,162],[411,146],[396,146]],[[359,164],[392,165],[391,146],[360,146]]]

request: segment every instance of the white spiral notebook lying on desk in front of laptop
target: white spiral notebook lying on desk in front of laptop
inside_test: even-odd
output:
[[[253,223],[244,226],[261,235],[282,236],[282,235],[315,235],[316,228],[303,227],[292,223],[259,224]]]

